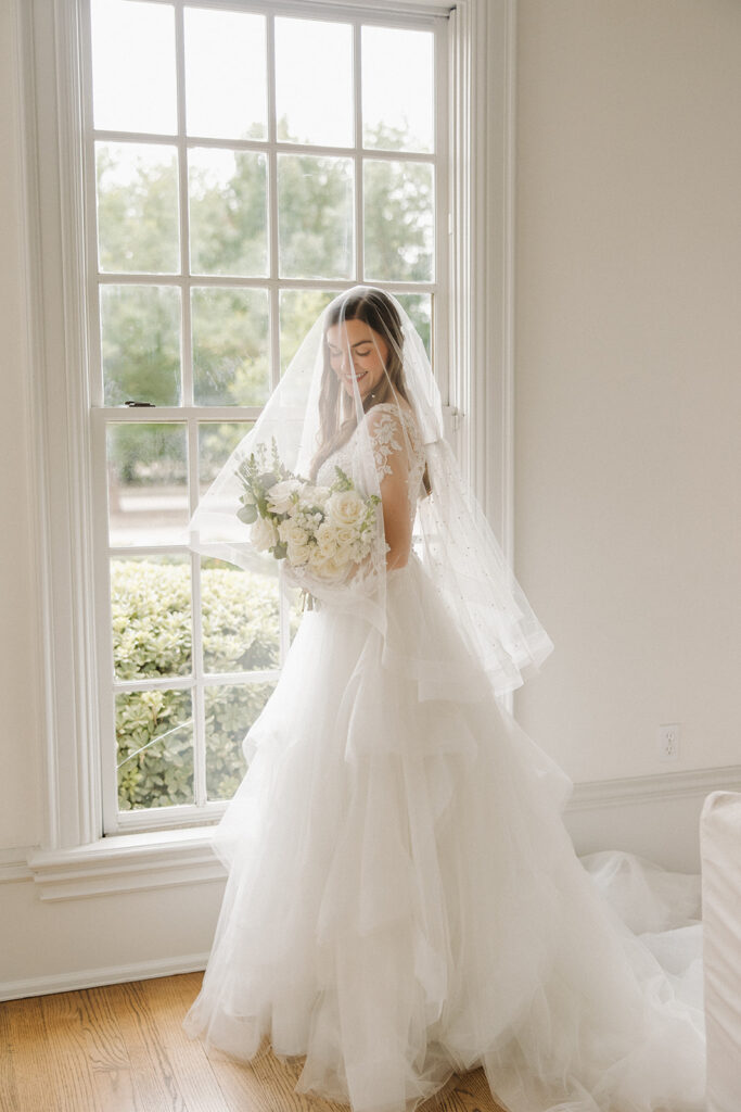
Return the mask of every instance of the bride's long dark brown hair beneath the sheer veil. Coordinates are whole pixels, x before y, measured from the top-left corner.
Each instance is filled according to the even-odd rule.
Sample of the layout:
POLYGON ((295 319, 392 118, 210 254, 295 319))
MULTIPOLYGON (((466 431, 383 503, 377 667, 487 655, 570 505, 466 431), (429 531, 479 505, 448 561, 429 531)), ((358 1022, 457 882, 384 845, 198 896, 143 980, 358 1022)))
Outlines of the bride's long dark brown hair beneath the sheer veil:
MULTIPOLYGON (((362 292, 350 294, 346 298, 338 298, 327 314, 324 321, 324 335, 322 338, 323 371, 321 389, 319 393, 319 448, 311 460, 311 478, 316 479, 317 471, 324 460, 346 444, 357 428, 354 401, 350 395, 342 389, 339 378, 332 370, 329 361, 329 345, 327 332, 333 325, 342 320, 362 320, 373 329, 384 341, 388 348, 385 361, 385 374, 370 394, 362 399, 363 411, 368 413, 373 406, 383 401, 394 401, 403 398, 409 408, 414 411, 414 406, 407 393, 404 385, 404 367, 402 361, 402 350, 404 342, 401 318, 395 305, 383 292, 375 287, 366 287, 362 292)), ((430 493, 430 478, 427 466, 422 477, 424 489, 430 493)))

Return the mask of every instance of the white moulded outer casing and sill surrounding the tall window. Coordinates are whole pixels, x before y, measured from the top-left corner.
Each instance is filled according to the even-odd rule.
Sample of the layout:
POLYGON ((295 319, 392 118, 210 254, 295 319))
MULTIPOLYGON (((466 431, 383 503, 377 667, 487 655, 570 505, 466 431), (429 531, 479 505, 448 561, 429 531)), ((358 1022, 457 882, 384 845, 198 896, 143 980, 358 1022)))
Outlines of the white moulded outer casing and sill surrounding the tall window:
MULTIPOLYGON (((49 900, 192 883, 222 872, 208 827, 101 836, 83 373, 81 2, 27 0, 14 9, 43 661, 44 832, 29 866, 41 898, 49 900)), ((296 0, 297 13, 313 3, 296 0)), ((323 7, 363 6, 323 0, 323 7)), ((450 428, 511 560, 515 0, 374 0, 373 8, 450 13, 450 428)))

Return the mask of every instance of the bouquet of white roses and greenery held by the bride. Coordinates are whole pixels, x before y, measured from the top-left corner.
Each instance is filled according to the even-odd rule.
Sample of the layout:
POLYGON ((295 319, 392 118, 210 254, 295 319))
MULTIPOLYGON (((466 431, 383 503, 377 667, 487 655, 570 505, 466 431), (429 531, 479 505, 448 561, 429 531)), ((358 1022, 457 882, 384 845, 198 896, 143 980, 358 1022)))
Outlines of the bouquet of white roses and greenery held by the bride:
POLYGON ((294 475, 272 445, 242 460, 237 516, 251 525, 250 539, 291 568, 306 569, 328 583, 341 582, 353 564, 371 552, 375 536, 378 495, 364 497, 340 467, 330 486, 294 475))

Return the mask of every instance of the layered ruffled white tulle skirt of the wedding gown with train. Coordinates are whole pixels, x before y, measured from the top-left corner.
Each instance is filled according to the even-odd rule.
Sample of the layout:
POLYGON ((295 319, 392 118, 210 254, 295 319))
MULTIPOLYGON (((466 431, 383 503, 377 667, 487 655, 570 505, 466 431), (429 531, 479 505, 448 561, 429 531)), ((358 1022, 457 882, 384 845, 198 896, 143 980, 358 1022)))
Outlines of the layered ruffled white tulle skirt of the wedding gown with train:
POLYGON ((309 612, 214 833, 229 876, 186 1031, 306 1055, 297 1091, 410 1112, 485 1070, 511 1112, 699 1112, 699 878, 577 857, 571 781, 412 558, 385 638, 309 612), (439 683, 403 666, 449 659, 439 683), (460 667, 458 667, 460 666, 460 667), (468 673, 467 673, 468 668, 468 673))

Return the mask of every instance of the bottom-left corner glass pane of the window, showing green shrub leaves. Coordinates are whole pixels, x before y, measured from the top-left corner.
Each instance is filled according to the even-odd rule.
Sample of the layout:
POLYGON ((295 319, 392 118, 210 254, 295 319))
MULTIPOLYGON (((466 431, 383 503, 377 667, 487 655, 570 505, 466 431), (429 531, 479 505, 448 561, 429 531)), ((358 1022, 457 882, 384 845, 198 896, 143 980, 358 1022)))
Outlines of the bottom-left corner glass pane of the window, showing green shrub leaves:
POLYGON ((119 807, 193 802, 193 717, 189 691, 116 696, 119 807))

